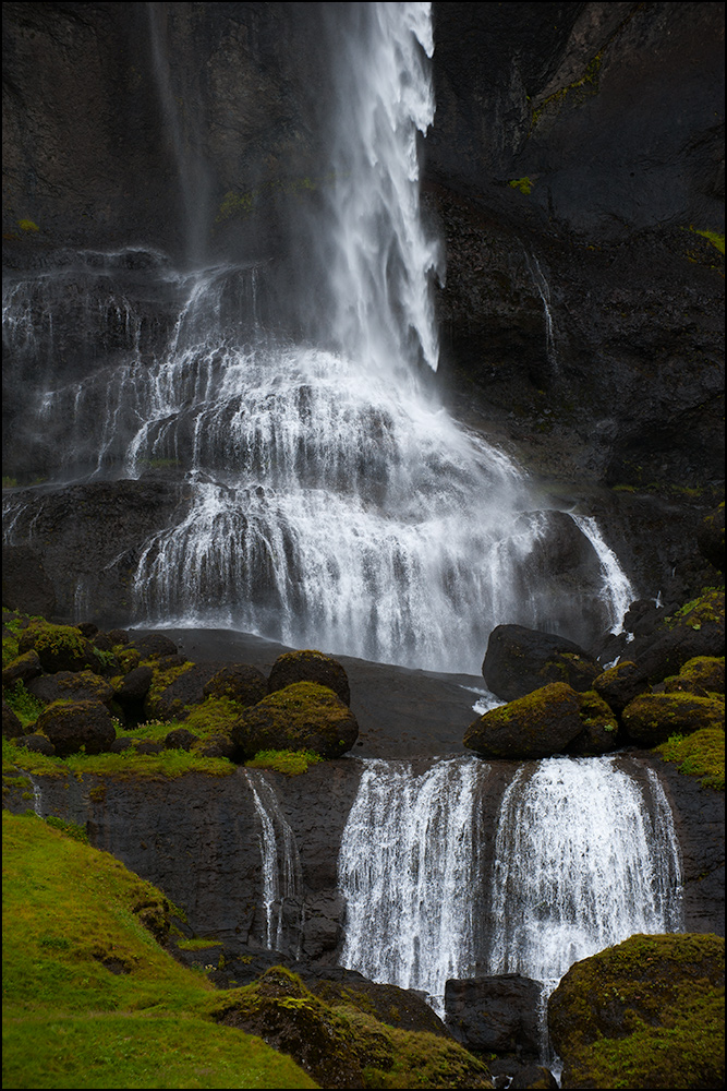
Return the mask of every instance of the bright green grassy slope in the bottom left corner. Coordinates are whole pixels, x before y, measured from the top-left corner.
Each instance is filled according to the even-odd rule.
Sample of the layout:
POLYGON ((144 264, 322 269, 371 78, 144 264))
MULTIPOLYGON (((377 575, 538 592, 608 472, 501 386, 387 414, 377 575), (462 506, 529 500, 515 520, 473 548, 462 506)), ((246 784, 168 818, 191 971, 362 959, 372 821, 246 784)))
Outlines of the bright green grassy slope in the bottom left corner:
POLYGON ((3 1087, 315 1088, 206 1015, 211 985, 142 923, 172 911, 107 853, 3 812, 3 1087))

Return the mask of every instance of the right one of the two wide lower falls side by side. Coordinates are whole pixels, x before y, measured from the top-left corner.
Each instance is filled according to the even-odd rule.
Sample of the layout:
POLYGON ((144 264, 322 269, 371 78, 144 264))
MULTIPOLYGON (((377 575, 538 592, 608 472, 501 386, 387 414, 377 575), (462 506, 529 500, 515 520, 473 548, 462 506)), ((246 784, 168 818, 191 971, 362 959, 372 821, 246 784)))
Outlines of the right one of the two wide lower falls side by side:
POLYGON ((549 995, 580 959, 634 933, 683 930, 671 812, 639 768, 601 757, 518 769, 495 838, 490 972, 523 973, 549 995))

